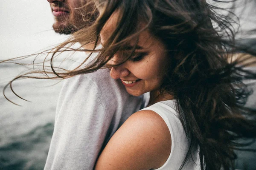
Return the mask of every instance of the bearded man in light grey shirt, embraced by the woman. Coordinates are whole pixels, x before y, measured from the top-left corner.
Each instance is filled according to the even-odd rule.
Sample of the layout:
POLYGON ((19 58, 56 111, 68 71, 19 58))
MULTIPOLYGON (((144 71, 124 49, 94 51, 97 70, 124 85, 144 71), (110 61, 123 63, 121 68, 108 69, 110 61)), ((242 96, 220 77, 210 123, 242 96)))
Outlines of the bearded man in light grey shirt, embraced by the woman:
MULTIPOLYGON (((92 9, 90 6, 80 16, 81 0, 48 2, 55 16, 53 28, 58 33, 72 34, 92 22, 84 20, 92 18, 87 13, 87 9, 92 9)), ((86 55, 76 63, 84 58, 86 55)), ((145 103, 144 96, 129 95, 121 82, 112 79, 109 69, 65 79, 44 170, 92 170, 113 133, 132 113, 144 108, 145 103)))

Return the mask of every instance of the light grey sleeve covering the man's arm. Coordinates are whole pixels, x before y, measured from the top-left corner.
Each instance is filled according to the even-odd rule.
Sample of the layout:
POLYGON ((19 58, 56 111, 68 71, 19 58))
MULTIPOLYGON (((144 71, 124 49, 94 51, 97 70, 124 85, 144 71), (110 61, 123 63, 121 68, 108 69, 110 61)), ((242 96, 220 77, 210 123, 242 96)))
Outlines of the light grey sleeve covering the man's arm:
POLYGON ((111 118, 90 79, 78 75, 65 80, 44 170, 92 170, 111 118))

